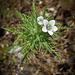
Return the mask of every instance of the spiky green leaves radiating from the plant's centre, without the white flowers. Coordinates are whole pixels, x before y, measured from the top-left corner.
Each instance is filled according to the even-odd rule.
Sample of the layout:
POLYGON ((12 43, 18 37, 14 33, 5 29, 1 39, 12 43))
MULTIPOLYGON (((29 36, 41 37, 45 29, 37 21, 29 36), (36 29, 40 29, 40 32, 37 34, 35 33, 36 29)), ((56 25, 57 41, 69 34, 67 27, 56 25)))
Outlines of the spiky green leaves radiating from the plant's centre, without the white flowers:
MULTIPOLYGON (((46 8, 43 12, 43 17, 45 17, 46 8)), ((19 36, 15 40, 14 45, 19 45, 19 42, 21 42, 19 46, 22 47, 21 52, 24 53, 24 58, 22 62, 27 59, 28 54, 30 53, 32 53, 33 56, 35 56, 33 52, 34 49, 36 50, 44 49, 45 52, 49 51, 50 53, 54 52, 58 57, 58 59, 60 59, 58 53, 55 50, 53 50, 51 46, 51 45, 56 45, 57 43, 51 41, 53 37, 50 36, 48 33, 42 32, 42 27, 37 24, 38 15, 35 10, 34 1, 33 1, 33 12, 31 12, 29 15, 21 14, 18 11, 15 11, 15 13, 17 14, 18 17, 20 17, 22 21, 22 23, 19 22, 18 25, 20 31, 8 29, 8 28, 4 28, 4 29, 15 34, 19 34, 19 36)), ((13 60, 15 61, 15 59, 13 60)))

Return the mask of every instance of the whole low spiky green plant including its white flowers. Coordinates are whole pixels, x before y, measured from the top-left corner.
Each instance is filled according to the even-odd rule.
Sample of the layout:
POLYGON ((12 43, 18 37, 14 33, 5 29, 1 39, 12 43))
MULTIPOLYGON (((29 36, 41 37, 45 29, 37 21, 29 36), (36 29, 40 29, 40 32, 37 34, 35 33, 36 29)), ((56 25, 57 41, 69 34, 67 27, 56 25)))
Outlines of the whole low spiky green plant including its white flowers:
POLYGON ((56 31, 60 29, 57 27, 58 24, 55 24, 55 20, 49 21, 49 18, 45 19, 46 8, 41 16, 38 16, 35 10, 34 1, 32 8, 33 11, 28 15, 15 11, 22 21, 19 21, 18 25, 20 31, 8 28, 4 29, 19 34, 15 40, 14 46, 19 45, 22 47, 21 52, 24 53, 22 62, 27 59, 29 53, 35 56, 34 49, 50 53, 53 52, 60 60, 59 54, 52 47, 56 45, 56 42, 53 42, 52 39, 56 36, 56 31))

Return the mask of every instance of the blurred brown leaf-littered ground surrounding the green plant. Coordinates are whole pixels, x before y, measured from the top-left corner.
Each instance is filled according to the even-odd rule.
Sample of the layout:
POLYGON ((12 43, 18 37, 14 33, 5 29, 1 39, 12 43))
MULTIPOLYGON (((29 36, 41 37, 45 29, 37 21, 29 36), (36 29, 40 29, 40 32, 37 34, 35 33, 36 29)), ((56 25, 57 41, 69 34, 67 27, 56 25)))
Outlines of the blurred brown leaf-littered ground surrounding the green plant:
POLYGON ((0 0, 0 75, 75 75, 75 0, 34 1, 38 14, 42 14, 47 4, 46 17, 52 17, 62 27, 71 28, 59 30, 64 33, 53 39, 57 42, 54 47, 62 63, 54 54, 34 50, 36 57, 29 55, 27 62, 20 65, 22 55, 16 57, 8 49, 18 35, 3 28, 18 29, 20 18, 14 10, 28 15, 33 0, 0 0))

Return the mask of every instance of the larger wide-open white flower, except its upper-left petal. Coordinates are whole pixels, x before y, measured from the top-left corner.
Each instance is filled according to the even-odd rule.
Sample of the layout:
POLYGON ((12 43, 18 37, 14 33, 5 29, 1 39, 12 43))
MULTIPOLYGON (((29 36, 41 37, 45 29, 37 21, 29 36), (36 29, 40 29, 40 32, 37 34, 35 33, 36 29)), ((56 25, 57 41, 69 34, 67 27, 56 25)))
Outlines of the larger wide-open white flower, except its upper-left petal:
POLYGON ((51 20, 47 25, 44 25, 42 28, 43 32, 48 32, 50 35, 53 35, 53 32, 57 31, 58 28, 55 25, 55 20, 51 20))

